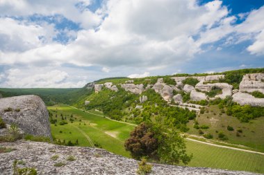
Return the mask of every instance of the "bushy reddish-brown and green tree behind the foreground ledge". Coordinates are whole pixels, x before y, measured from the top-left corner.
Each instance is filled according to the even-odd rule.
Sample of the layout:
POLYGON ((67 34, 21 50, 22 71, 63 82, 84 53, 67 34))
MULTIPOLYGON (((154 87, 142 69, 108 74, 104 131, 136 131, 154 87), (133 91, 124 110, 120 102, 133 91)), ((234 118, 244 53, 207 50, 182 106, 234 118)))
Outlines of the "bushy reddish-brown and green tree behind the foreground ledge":
POLYGON ((160 163, 178 165, 183 162, 186 165, 192 158, 192 155, 186 154, 184 139, 176 129, 142 122, 135 127, 130 136, 125 142, 125 147, 131 152, 131 156, 138 160, 148 156, 160 163))

